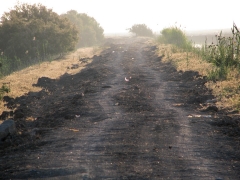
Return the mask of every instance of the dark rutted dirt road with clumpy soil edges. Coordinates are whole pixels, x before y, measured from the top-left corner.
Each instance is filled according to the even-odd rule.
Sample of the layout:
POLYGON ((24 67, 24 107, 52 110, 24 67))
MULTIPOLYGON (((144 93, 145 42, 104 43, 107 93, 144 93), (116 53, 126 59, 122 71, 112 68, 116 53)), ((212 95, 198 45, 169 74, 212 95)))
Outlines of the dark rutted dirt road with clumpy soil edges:
POLYGON ((17 127, 36 132, 1 151, 0 178, 240 179, 239 140, 213 123, 226 117, 198 110, 213 98, 204 78, 162 63, 147 39, 109 46, 80 73, 40 78, 41 92, 14 100, 38 117, 17 127))

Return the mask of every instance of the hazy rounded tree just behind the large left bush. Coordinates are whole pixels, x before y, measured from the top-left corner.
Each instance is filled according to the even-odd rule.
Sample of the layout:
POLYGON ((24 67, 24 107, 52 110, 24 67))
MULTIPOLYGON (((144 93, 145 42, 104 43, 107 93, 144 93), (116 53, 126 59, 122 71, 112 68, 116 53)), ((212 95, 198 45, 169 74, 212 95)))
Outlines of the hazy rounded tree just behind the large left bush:
POLYGON ((95 45, 103 40, 104 30, 93 17, 78 13, 75 10, 68 11, 62 17, 68 18, 77 27, 79 32, 78 47, 95 45))

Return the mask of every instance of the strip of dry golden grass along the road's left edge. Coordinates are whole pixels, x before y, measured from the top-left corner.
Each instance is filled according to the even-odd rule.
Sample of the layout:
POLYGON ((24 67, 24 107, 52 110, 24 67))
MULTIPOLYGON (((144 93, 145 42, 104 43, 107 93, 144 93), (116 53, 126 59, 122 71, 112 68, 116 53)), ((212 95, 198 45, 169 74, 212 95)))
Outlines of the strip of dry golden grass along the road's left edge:
MULTIPOLYGON (((80 48, 77 51, 66 55, 63 59, 44 62, 42 64, 30 66, 21 71, 14 72, 9 76, 0 79, 0 84, 10 82, 11 92, 7 95, 13 98, 22 96, 30 91, 38 92, 41 88, 32 86, 32 84, 37 83, 38 78, 49 77, 57 79, 65 73, 76 74, 84 69, 86 65, 86 63, 81 63, 79 58, 92 58, 93 55, 98 55, 100 52, 101 48, 98 47, 80 48), (71 69, 72 64, 78 64, 79 68, 71 69)), ((90 62, 91 60, 87 63, 90 62)), ((0 114, 4 110, 7 110, 6 107, 4 107, 4 102, 0 101, 0 114)))

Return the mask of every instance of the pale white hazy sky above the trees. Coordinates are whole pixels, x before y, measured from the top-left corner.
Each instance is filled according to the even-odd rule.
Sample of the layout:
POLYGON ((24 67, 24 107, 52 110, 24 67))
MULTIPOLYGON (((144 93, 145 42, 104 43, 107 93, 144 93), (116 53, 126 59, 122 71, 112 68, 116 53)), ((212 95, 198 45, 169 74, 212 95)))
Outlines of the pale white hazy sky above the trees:
MULTIPOLYGON (((14 8, 17 0, 0 0, 0 16, 14 8)), ((155 32, 177 25, 186 30, 240 27, 239 0, 20 0, 41 3, 58 14, 69 10, 94 17, 105 33, 127 32, 144 23, 155 32), (186 28, 185 28, 186 27, 186 28)))

